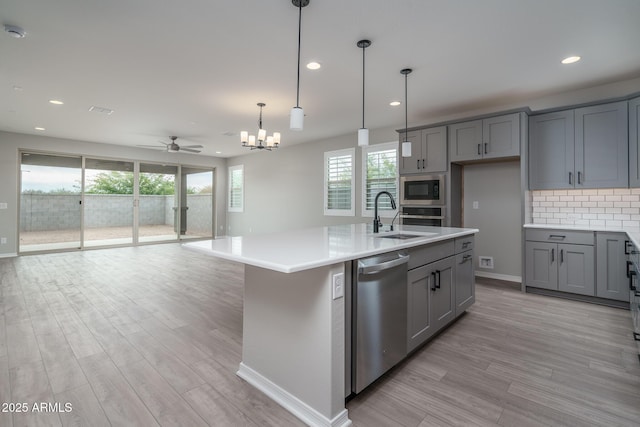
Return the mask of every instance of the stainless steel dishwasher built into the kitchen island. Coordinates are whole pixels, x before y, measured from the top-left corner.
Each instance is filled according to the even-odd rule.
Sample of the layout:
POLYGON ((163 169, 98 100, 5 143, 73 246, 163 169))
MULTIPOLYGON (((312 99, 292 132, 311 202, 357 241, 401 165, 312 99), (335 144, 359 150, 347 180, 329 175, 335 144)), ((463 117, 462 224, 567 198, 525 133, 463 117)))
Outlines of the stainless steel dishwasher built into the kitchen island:
POLYGON ((352 391, 360 393, 407 355, 404 252, 358 260, 352 301, 352 391))

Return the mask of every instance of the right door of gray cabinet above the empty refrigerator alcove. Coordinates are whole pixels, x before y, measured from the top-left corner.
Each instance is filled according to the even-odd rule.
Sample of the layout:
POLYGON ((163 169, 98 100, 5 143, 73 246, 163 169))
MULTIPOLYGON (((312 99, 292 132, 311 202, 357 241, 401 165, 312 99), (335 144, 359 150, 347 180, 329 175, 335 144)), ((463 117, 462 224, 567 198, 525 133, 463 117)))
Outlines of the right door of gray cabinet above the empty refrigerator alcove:
POLYGON ((485 159, 520 155, 520 114, 482 121, 482 155, 485 159))

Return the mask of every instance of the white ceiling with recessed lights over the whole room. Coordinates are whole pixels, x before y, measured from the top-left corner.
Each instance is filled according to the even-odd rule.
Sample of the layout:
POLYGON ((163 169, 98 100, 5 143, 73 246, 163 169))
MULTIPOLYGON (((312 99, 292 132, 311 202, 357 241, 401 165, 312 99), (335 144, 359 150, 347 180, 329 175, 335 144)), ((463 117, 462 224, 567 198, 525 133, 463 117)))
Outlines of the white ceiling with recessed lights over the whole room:
MULTIPOLYGON (((298 9, 291 0, 0 0, 0 130, 112 144, 203 144, 243 154, 239 131, 283 146, 404 127, 640 76, 638 0, 311 0, 302 11, 302 132, 295 105, 298 9), (580 55, 563 66, 560 60, 580 55), (304 64, 316 60, 318 71, 304 64), (48 103, 64 101, 62 106, 48 103), (89 112, 90 106, 115 110, 89 112), (42 126, 45 131, 36 131, 42 126), (225 135, 232 133, 232 136, 225 135)), ((216 154, 216 152, 221 154, 216 154)))

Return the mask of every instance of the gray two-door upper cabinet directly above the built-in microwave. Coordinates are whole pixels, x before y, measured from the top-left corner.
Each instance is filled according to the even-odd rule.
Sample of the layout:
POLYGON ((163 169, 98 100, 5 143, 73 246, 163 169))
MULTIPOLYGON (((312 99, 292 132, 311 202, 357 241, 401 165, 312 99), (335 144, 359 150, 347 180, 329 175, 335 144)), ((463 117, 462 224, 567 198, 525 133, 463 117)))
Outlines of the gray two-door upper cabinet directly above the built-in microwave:
MULTIPOLYGON (((404 133, 400 134, 401 143, 404 133)), ((445 172, 447 170, 447 127, 411 131, 411 157, 400 157, 400 173, 445 172)))

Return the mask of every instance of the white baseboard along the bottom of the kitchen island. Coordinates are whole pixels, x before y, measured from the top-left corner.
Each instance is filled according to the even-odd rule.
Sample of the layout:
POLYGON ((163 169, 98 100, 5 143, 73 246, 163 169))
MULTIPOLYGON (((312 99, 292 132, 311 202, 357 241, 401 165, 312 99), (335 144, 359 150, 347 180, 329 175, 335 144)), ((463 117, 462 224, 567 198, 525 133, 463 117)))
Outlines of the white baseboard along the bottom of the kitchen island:
POLYGON ((240 363, 236 375, 269 396, 307 425, 318 427, 349 427, 351 425, 346 408, 333 419, 329 419, 244 363, 240 363))

